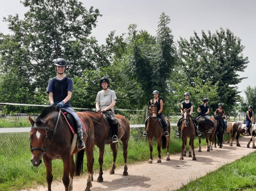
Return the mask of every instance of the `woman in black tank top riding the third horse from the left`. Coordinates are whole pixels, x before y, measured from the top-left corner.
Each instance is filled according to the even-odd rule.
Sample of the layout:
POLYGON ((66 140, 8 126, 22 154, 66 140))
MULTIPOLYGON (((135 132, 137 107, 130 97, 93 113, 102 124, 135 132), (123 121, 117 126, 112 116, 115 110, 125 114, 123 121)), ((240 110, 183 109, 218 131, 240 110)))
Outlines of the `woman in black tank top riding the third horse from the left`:
MULTIPOLYGON (((157 106, 157 117, 162 120, 164 135, 169 136, 169 133, 167 131, 167 123, 166 123, 165 118, 164 118, 163 113, 162 113, 163 100, 158 97, 159 92, 157 90, 153 91, 153 95, 154 95, 154 99, 151 99, 150 103, 155 104, 155 102, 157 101, 157 104, 156 104, 156 106, 157 106)), ((147 131, 144 131, 143 136, 147 136, 147 131)))

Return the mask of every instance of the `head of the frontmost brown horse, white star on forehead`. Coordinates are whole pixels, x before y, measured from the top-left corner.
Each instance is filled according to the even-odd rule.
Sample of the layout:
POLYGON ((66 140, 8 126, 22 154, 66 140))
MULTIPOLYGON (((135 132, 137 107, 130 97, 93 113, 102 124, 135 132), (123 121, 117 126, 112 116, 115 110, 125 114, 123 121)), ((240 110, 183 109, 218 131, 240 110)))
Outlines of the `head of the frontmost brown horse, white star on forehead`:
POLYGON ((39 115, 34 121, 30 115, 28 120, 32 125, 30 130, 30 150, 31 150, 31 162, 33 166, 39 166, 42 163, 42 156, 47 148, 48 138, 48 123, 50 121, 50 115, 44 120, 39 115))

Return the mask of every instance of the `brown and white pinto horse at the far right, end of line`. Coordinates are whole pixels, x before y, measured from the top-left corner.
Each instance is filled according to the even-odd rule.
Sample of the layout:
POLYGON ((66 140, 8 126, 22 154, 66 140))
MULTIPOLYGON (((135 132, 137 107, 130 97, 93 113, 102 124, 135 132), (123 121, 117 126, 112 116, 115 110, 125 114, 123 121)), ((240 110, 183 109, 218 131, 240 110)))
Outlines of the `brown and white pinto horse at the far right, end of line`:
MULTIPOLYGON (((242 134, 242 135, 245 135, 245 128, 246 127, 246 124, 243 122, 243 121, 238 121, 238 122, 234 122, 233 125, 232 125, 232 128, 233 128, 233 132, 232 132, 232 136, 231 136, 231 142, 230 142, 230 146, 233 146, 233 140, 235 138, 235 134, 237 133, 236 135, 236 146, 241 146, 239 144, 239 135, 242 134)), ((247 130, 247 133, 249 135, 251 135, 251 139, 249 140, 248 144, 247 144, 247 147, 249 148, 250 147, 250 143, 252 142, 252 148, 256 148, 255 144, 254 144, 254 137, 256 136, 256 125, 254 123, 251 123, 250 127, 248 128, 247 130)))

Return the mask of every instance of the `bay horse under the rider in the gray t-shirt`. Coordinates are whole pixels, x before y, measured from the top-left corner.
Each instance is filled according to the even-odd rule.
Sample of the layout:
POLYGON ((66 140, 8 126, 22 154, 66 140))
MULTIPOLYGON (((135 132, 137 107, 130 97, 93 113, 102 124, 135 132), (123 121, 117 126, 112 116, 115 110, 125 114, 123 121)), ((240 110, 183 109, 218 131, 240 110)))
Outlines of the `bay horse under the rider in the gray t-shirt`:
MULTIPOLYGON (((99 176, 97 178, 97 182, 103 182, 103 155, 104 155, 104 149, 105 144, 110 144, 110 147, 112 149, 113 153, 113 164, 112 168, 109 172, 109 174, 115 174, 115 168, 116 168, 116 157, 117 157, 117 143, 112 143, 112 139, 109 138, 110 132, 110 126, 106 122, 106 118, 104 116, 103 112, 93 111, 93 110, 87 110, 87 111, 81 111, 78 112, 81 114, 87 114, 93 121, 94 124, 94 144, 99 147, 99 164, 100 164, 100 171, 99 176)), ((124 156, 124 172, 123 176, 127 176, 127 149, 128 149, 128 141, 130 138, 130 124, 128 120, 122 116, 122 115, 115 115, 117 121, 118 121, 118 140, 121 140, 123 143, 123 156, 124 156)), ((93 176, 92 176, 93 180, 93 176)))

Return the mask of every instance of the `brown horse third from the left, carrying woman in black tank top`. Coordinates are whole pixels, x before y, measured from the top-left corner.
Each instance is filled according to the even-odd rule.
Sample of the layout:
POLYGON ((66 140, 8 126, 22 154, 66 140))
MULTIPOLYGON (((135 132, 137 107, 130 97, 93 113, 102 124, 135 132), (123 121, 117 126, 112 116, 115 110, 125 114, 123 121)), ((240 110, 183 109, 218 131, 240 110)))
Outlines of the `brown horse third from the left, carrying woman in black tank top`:
MULTIPOLYGON (((162 149, 167 148, 167 157, 166 160, 170 161, 170 155, 169 155, 169 141, 170 141, 170 135, 164 136, 164 130, 159 122, 159 118, 157 117, 157 101, 155 104, 151 104, 149 101, 149 112, 150 116, 148 118, 148 123, 146 127, 147 131, 147 139, 149 142, 149 150, 150 150, 150 158, 148 160, 148 164, 152 164, 153 157, 152 157, 152 151, 153 151, 153 142, 152 139, 156 138, 157 140, 157 150, 158 150, 158 159, 157 163, 161 163, 161 140, 162 140, 162 149)), ((167 123, 167 131, 170 134, 170 122, 165 117, 166 123, 167 123)))

